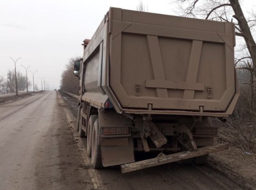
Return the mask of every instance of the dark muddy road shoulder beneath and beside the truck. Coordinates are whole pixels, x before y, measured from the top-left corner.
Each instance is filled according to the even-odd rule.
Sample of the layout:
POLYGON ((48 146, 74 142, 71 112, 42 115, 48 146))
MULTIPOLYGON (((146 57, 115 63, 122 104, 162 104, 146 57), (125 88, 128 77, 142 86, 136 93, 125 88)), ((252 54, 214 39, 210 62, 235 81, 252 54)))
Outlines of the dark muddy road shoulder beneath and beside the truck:
MULTIPOLYGON (((68 112, 73 115, 70 121, 72 117, 75 120, 76 99, 65 94, 62 97, 68 112)), ((69 124, 74 127, 72 121, 69 124)), ((84 159, 81 167, 91 173, 86 179, 94 178, 87 181, 92 183, 94 189, 256 189, 256 162, 253 156, 233 147, 210 155, 203 166, 170 163, 126 174, 122 174, 119 167, 93 170, 86 156, 86 139, 79 138, 73 127, 68 133, 70 136, 73 133, 74 139, 69 136, 67 144, 75 143, 77 147, 73 146, 73 154, 80 152, 83 155, 75 160, 81 164, 80 159, 84 159)))

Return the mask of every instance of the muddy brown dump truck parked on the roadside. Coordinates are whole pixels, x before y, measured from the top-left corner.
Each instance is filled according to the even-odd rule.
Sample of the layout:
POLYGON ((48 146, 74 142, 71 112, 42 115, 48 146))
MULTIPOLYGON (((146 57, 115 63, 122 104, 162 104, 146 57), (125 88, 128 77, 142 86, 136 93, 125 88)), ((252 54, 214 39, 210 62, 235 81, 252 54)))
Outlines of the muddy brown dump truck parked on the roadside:
POLYGON ((76 129, 94 168, 203 164, 228 149, 209 118, 225 121, 239 96, 233 23, 111 7, 82 45, 76 129))

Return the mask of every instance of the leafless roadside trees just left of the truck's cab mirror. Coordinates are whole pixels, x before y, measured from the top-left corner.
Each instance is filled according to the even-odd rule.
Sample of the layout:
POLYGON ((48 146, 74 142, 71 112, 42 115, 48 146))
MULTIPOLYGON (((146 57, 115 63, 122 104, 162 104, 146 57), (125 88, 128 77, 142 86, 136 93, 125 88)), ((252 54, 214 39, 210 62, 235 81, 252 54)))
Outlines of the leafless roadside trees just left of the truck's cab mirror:
POLYGON ((79 80, 74 75, 74 63, 81 57, 71 57, 66 64, 65 70, 61 74, 61 90, 70 92, 73 94, 79 94, 79 80))

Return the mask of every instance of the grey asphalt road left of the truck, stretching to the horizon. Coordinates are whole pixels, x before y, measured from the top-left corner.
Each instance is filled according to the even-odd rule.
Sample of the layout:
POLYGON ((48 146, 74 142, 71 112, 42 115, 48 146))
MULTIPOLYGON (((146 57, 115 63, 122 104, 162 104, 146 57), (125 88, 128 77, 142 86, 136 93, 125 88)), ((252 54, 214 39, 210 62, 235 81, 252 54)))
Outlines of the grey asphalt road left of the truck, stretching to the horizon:
POLYGON ((70 154, 74 136, 67 133, 70 126, 56 94, 44 92, 0 106, 1 190, 83 187, 81 159, 70 165, 72 156, 81 156, 70 154))

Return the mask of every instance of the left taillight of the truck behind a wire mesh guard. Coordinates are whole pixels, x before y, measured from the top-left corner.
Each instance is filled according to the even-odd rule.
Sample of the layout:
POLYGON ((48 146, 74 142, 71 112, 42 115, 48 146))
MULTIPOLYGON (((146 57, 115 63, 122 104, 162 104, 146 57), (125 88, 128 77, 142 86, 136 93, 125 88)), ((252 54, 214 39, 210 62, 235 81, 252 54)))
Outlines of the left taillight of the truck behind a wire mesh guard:
POLYGON ((131 127, 101 127, 100 135, 102 137, 126 137, 131 136, 131 127))

